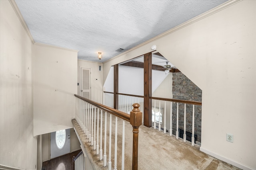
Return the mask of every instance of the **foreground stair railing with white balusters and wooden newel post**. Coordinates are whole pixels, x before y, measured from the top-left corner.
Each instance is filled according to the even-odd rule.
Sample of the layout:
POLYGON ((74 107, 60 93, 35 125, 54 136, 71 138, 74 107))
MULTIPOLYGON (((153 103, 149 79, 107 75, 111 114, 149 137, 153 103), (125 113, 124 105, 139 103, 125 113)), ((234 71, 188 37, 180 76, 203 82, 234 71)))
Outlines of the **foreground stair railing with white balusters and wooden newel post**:
MULTIPOLYGON (((132 169, 138 169, 138 132, 139 127, 142 125, 142 112, 140 105, 135 103, 132 106, 134 109, 130 114, 113 109, 111 107, 99 104, 92 100, 88 100, 81 96, 76 95, 76 121, 84 131, 85 135, 93 150, 99 154, 100 161, 103 161, 103 166, 107 166, 108 170, 112 169, 111 150, 112 150, 112 115, 115 118, 115 133, 114 133, 114 169, 117 169, 117 119, 118 117, 123 121, 122 127, 122 170, 124 170, 124 141, 125 141, 125 121, 130 122, 133 127, 133 151, 132 151, 132 169), (97 112, 97 114, 96 114, 97 112), (103 114, 104 112, 104 114, 103 114), (109 149, 107 158, 107 117, 109 116, 109 149), (104 118, 103 118, 104 117, 104 118), (103 127, 104 123, 104 127, 103 127), (96 133, 97 131, 97 133, 96 133), (104 135, 102 134, 104 131, 104 135), (100 135, 99 135, 100 134, 100 135), (104 136, 104 139, 103 139, 104 136), (104 150, 103 145, 104 144, 104 150)), ((113 123, 114 124, 114 123, 113 123)))

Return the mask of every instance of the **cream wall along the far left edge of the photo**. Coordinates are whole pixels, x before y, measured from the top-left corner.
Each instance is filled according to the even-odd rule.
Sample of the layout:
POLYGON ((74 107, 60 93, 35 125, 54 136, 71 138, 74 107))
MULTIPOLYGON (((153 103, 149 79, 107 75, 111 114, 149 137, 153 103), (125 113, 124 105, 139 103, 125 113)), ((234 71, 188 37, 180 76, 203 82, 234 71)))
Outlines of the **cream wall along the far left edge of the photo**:
POLYGON ((0 164, 36 168, 32 42, 7 0, 0 1, 0 164), (29 69, 28 69, 29 67, 29 69))

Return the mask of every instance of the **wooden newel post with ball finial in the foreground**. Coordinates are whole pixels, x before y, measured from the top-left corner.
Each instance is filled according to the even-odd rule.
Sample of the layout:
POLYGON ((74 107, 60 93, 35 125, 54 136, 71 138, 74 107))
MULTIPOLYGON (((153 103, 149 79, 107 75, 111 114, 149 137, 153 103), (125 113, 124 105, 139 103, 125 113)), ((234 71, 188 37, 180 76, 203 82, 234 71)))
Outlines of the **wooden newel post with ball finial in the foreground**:
POLYGON ((142 112, 139 107, 140 104, 132 105, 134 108, 130 112, 130 124, 133 127, 133 144, 132 144, 132 170, 138 170, 138 136, 139 127, 142 125, 142 112))

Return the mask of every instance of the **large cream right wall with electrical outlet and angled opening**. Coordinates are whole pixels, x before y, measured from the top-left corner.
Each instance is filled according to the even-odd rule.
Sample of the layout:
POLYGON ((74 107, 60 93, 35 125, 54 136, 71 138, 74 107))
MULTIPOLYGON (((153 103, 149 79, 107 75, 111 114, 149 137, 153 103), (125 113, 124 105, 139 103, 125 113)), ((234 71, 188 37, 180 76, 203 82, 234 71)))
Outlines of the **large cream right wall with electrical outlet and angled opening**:
MULTIPOLYGON (((256 1, 244 0, 188 21, 104 63, 157 51, 202 89, 200 150, 243 169, 256 169, 256 1), (234 143, 226 141, 234 135, 234 143)), ((225 5, 224 4, 224 5, 225 5)))

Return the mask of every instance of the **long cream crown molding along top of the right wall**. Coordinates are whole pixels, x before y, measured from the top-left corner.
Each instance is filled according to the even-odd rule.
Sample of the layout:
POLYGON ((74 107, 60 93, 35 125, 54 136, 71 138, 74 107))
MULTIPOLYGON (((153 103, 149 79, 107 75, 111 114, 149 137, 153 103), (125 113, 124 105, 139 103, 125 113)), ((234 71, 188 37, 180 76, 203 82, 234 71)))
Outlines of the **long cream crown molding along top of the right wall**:
POLYGON ((182 24, 180 24, 180 25, 178 25, 178 26, 176 26, 176 27, 174 27, 172 29, 169 29, 168 31, 166 31, 166 32, 164 32, 164 33, 162 33, 160 35, 157 35, 156 37, 154 37, 152 39, 149 39, 148 41, 145 41, 144 43, 141 43, 140 45, 137 45, 137 46, 135 46, 135 47, 125 51, 124 53, 121 53, 119 55, 116 55, 115 57, 112 57, 111 59, 109 59, 108 61, 105 61, 104 63, 112 61, 112 60, 116 59, 117 57, 120 57, 122 55, 125 55, 126 53, 129 53, 130 51, 138 49, 138 48, 140 48, 140 47, 142 47, 142 46, 144 46, 144 45, 146 45, 148 43, 151 43, 153 41, 156 41, 157 39, 160 39, 160 38, 162 38, 162 37, 164 37, 166 35, 169 35, 170 33, 178 31, 179 29, 182 29, 183 27, 186 27, 186 26, 188 26, 188 25, 190 25, 190 24, 192 24, 192 23, 194 23, 196 21, 199 21, 199 20, 202 20, 202 19, 204 19, 204 18, 206 18, 208 16, 211 16, 212 14, 215 14, 216 12, 219 12, 219 11, 225 9, 225 8, 228 8, 229 6, 232 6, 232 5, 234 5, 234 4, 236 4, 236 3, 240 2, 240 1, 242 1, 242 0, 229 0, 227 2, 224 2, 223 4, 221 4, 219 6, 216 6, 215 8, 212 8, 211 10, 209 10, 207 12, 204 12, 203 14, 200 14, 199 16, 196 16, 196 17, 192 18, 191 20, 188 20, 188 21, 186 21, 186 22, 184 22, 184 23, 182 23, 182 24))

